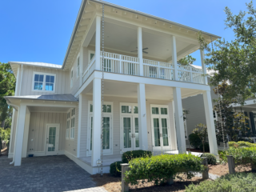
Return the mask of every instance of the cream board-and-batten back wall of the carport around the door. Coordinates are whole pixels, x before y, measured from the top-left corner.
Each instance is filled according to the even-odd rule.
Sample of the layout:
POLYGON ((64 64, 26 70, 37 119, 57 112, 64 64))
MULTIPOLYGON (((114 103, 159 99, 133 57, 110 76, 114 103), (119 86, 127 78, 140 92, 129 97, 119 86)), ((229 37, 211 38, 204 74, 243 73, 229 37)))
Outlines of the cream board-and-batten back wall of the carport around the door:
POLYGON ((54 123, 60 125, 58 150, 65 150, 66 113, 30 112, 27 153, 46 152, 46 124, 54 123))

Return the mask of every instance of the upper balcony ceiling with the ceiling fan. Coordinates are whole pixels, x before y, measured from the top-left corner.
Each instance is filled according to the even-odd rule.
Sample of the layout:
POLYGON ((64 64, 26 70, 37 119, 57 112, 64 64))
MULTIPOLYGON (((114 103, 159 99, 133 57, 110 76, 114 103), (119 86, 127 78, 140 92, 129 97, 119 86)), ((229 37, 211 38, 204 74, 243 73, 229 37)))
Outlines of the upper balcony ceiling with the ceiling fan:
MULTIPOLYGON (((110 19, 108 19, 110 21, 110 19)), ((126 25, 121 26, 120 23, 105 22, 105 49, 118 54, 126 54, 137 57, 137 27, 126 25), (128 26, 128 27, 127 27, 128 26), (134 52, 131 52, 134 51, 134 52)), ((185 39, 177 38, 178 58, 184 57, 195 50, 198 50, 197 43, 186 42, 185 39)), ((95 46, 95 34, 90 40, 90 46, 95 46)), ((142 30, 142 46, 148 48, 145 50, 148 54, 143 53, 143 58, 158 59, 159 61, 169 62, 171 54, 171 38, 170 35, 157 33, 153 30, 142 30)))

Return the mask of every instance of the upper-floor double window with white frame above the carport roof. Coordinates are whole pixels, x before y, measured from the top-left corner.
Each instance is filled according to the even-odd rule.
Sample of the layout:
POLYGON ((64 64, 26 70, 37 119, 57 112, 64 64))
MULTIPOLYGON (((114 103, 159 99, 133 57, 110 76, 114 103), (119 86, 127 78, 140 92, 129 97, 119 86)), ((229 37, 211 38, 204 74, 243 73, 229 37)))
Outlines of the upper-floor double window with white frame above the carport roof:
POLYGON ((55 91, 56 74, 46 74, 34 72, 32 90, 36 91, 55 91))

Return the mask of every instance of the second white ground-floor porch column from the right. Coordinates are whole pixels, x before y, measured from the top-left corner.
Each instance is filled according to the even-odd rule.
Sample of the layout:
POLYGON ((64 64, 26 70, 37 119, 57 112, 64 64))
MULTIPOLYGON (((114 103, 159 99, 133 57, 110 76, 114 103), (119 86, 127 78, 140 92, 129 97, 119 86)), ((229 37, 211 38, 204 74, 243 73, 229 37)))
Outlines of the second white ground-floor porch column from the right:
POLYGON ((182 110, 182 92, 181 88, 175 87, 174 91, 174 113, 176 122, 176 134, 178 142, 178 153, 186 153, 186 139, 183 122, 183 110, 182 110))

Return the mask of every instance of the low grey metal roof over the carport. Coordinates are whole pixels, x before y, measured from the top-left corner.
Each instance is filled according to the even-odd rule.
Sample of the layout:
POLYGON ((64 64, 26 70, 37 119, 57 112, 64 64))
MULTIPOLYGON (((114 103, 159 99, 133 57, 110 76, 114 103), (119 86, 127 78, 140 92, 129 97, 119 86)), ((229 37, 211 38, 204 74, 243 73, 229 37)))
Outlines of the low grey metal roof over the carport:
POLYGON ((6 96, 8 99, 30 99, 30 100, 45 100, 56 102, 78 102, 72 94, 46 94, 46 95, 24 95, 24 96, 6 96))

